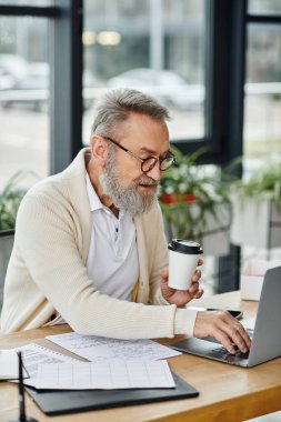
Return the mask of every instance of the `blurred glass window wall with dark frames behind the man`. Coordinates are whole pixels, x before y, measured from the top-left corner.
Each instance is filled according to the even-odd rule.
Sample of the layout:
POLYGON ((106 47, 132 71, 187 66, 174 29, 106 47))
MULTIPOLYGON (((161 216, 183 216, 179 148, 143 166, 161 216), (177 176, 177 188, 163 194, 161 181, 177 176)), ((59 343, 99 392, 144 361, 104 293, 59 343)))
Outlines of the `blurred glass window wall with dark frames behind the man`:
MULTIPOLYGON (((0 188, 21 169, 61 171, 117 87, 167 105, 171 142, 208 147, 209 172, 242 157, 249 178, 281 154, 280 17, 279 0, 0 0, 0 188)), ((207 290, 235 289, 267 253, 207 257, 207 290)))

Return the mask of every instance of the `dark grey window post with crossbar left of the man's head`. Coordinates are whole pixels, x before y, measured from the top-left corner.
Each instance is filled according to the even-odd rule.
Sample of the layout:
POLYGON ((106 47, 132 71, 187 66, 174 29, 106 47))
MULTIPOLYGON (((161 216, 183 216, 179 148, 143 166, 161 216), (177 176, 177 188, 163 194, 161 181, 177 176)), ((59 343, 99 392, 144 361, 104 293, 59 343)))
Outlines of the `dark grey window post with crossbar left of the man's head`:
POLYGON ((50 23, 50 173, 82 148, 82 0, 52 6, 1 6, 0 17, 48 18, 50 23))

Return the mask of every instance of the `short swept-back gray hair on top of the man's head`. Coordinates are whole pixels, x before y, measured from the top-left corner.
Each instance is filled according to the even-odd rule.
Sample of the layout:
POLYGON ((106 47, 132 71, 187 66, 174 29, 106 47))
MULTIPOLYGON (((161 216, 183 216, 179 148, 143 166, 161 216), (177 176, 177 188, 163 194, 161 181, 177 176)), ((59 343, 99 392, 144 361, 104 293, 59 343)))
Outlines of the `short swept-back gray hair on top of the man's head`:
POLYGON ((130 112, 147 114, 160 122, 170 119, 165 107, 134 89, 109 91, 100 99, 96 110, 97 115, 91 128, 91 134, 114 133, 118 130, 118 124, 124 122, 130 112))

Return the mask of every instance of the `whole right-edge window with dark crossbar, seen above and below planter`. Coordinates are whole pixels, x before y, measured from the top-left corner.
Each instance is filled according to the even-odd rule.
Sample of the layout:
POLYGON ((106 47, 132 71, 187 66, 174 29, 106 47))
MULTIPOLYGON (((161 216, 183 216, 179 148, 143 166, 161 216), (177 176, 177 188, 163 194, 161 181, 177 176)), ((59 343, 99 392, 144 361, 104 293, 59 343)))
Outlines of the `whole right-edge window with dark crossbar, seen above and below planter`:
MULTIPOLYGON (((281 153, 281 3, 249 0, 247 14, 243 178, 281 153)), ((281 250, 241 249, 249 258, 277 259, 281 250)))

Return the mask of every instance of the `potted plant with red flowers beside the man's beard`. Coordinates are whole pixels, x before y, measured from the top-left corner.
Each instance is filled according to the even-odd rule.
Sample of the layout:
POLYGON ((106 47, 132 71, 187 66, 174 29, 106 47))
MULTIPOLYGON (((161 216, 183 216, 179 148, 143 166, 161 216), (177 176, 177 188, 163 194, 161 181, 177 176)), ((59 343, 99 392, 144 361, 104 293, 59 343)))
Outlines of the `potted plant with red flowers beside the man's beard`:
POLYGON ((227 254, 230 202, 220 172, 195 165, 204 149, 184 155, 172 145, 172 152, 178 160, 162 174, 159 197, 168 239, 197 240, 207 254, 227 254))

